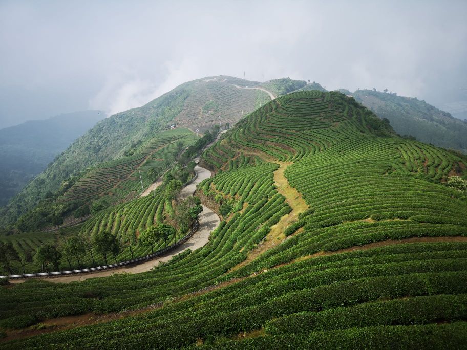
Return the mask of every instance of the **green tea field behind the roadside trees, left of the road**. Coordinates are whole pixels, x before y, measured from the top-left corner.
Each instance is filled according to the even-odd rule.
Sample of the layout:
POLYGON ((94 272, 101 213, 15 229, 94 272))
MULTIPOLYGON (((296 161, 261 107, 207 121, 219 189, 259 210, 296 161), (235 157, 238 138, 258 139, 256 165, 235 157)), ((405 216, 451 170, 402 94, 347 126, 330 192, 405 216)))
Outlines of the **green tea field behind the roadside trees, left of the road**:
MULTIPOLYGON (((137 244, 137 239, 140 232, 146 228, 157 225, 163 222, 169 222, 170 209, 172 208, 169 201, 166 201, 162 191, 158 191, 156 196, 149 195, 144 198, 136 199, 124 204, 112 206, 102 210, 94 215, 84 224, 73 226, 70 228, 60 229, 56 232, 43 233, 23 233, 7 236, 2 238, 2 242, 11 242, 16 251, 20 254, 28 252, 32 258, 25 265, 25 273, 38 272, 37 264, 34 263, 34 255, 36 250, 43 244, 53 244, 61 248, 67 238, 80 235, 83 238, 94 237, 102 231, 110 232, 116 236, 116 240, 120 246, 120 252, 115 259, 111 257, 108 262, 115 260, 117 262, 128 261, 134 258, 143 257, 157 252, 160 249, 166 248, 164 240, 160 239, 154 247, 153 251, 150 246, 137 244), (133 244, 132 247, 129 245, 133 244)), ((167 246, 173 244, 176 240, 182 238, 180 234, 172 235, 167 239, 167 246)), ((59 270, 72 270, 80 268, 91 268, 96 266, 104 266, 105 261, 102 254, 92 247, 91 253, 86 252, 79 255, 79 261, 75 256, 62 256, 59 261, 59 270), (92 254, 91 254, 92 253, 92 254)), ((15 271, 23 272, 19 262, 14 261, 12 265, 15 271)), ((40 271, 39 271, 40 272, 40 271)), ((8 274, 7 271, 4 273, 8 274)))

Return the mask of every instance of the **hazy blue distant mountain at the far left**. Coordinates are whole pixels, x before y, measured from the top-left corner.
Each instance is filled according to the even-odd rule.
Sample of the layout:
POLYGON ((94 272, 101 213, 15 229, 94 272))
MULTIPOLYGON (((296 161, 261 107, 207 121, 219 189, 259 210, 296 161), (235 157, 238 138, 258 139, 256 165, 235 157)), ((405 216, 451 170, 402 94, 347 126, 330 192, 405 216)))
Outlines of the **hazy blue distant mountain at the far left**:
POLYGON ((105 117, 80 111, 0 129, 0 205, 7 204, 47 164, 105 117))

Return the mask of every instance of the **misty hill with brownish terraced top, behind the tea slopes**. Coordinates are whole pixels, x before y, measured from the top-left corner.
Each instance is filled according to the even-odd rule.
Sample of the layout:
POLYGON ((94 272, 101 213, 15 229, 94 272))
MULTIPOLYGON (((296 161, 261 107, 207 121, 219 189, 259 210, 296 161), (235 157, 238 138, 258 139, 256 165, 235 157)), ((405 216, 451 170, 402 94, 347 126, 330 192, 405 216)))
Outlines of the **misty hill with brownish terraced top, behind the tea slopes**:
POLYGON ((229 76, 206 77, 181 84, 142 107, 99 121, 0 209, 0 225, 15 222, 41 200, 61 195, 77 178, 103 162, 134 154, 171 124, 193 133, 196 129, 204 133, 219 123, 219 117, 224 127, 233 125, 242 117, 242 108, 246 115, 270 100, 261 90, 234 85, 259 84, 229 76))

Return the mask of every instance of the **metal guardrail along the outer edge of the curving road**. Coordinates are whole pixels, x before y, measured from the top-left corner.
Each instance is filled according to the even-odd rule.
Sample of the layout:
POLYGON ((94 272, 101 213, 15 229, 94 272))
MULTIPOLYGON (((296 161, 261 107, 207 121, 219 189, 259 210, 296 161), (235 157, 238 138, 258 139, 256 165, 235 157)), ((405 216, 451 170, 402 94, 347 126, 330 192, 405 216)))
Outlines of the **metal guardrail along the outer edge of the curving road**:
POLYGON ((171 245, 171 246, 169 246, 167 248, 164 248, 162 250, 159 250, 159 251, 155 252, 154 254, 143 256, 143 257, 140 257, 140 258, 137 258, 137 259, 117 262, 117 264, 99 266, 99 267, 89 268, 89 269, 57 271, 57 272, 29 273, 29 274, 25 274, 25 275, 8 275, 8 276, 0 276, 0 278, 15 279, 15 278, 67 276, 67 275, 76 275, 76 274, 80 274, 80 273, 89 273, 89 272, 95 272, 95 271, 111 270, 111 269, 115 269, 115 268, 122 267, 122 266, 136 265, 136 264, 139 264, 140 262, 152 260, 153 258, 158 257, 159 255, 162 255, 163 253, 180 246, 182 243, 185 243, 191 236, 193 236, 193 234, 198 229, 198 226, 199 225, 197 223, 195 225, 195 227, 193 227, 183 238, 179 239, 173 245, 171 245))

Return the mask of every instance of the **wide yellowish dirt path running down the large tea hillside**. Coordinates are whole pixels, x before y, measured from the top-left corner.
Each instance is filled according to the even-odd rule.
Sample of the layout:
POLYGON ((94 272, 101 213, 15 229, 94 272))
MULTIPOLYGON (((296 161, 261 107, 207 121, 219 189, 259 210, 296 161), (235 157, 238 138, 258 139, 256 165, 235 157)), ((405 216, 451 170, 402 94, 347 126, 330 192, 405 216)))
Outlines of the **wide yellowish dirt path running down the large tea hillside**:
POLYGON ((292 211, 281 217, 281 220, 273 226, 271 231, 267 234, 266 238, 258 244, 258 246, 252 249, 245 261, 235 266, 231 271, 235 271, 238 268, 249 264, 249 262, 256 259, 259 255, 265 251, 279 245, 286 236, 284 230, 287 226, 291 225, 298 220, 299 214, 303 213, 308 209, 308 205, 302 198, 302 194, 295 188, 289 185, 287 178, 284 176, 284 171, 292 162, 281 162, 279 163, 279 169, 274 171, 274 185, 279 193, 285 197, 286 203, 292 208, 292 211))

